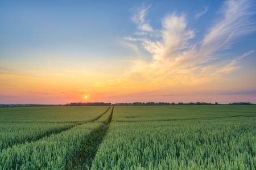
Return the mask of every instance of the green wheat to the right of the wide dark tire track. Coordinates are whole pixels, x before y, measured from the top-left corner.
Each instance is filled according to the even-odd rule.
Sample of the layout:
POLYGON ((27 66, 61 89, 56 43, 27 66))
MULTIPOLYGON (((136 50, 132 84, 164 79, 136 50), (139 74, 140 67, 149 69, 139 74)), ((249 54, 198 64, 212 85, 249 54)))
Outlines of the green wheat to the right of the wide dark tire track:
POLYGON ((116 107, 92 169, 255 169, 255 115, 255 106, 116 107))

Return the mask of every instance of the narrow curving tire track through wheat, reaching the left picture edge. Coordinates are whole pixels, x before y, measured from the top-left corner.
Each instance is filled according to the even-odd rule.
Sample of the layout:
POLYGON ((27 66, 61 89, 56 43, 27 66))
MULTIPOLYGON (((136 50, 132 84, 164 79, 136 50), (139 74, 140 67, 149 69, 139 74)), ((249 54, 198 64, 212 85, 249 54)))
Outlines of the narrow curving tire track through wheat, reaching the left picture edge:
MULTIPOLYGON (((110 106, 110 107, 111 107, 111 106, 110 106)), ((86 124, 87 122, 94 122, 94 121, 97 121, 99 118, 101 118, 104 114, 106 114, 106 113, 109 111, 110 107, 109 107, 108 109, 106 109, 106 111, 105 111, 104 113, 102 113, 102 114, 100 114, 99 116, 93 118, 92 120, 74 122, 73 125, 64 126, 63 128, 59 128, 59 129, 48 130, 48 131, 46 131, 46 133, 41 134, 41 135, 38 135, 38 137, 36 137, 36 139, 30 138, 30 139, 26 139, 26 140, 21 141, 21 142, 18 142, 18 143, 13 143, 13 144, 11 144, 11 145, 9 145, 9 146, 7 146, 7 147, 2 148, 2 150, 5 150, 6 148, 9 148, 9 147, 13 147, 14 145, 22 145, 22 144, 25 143, 25 142, 36 142, 36 141, 39 141, 40 139, 42 139, 42 138, 44 138, 44 137, 49 137, 49 136, 51 136, 51 135, 53 135, 53 134, 59 134, 59 133, 61 133, 61 132, 63 132, 63 131, 67 131, 67 130, 69 130, 69 129, 75 128, 76 126, 79 126, 79 125, 82 125, 82 124, 86 124)), ((50 123, 51 123, 51 122, 50 122, 50 123)), ((1 152, 2 150, 0 150, 0 152, 1 152)))

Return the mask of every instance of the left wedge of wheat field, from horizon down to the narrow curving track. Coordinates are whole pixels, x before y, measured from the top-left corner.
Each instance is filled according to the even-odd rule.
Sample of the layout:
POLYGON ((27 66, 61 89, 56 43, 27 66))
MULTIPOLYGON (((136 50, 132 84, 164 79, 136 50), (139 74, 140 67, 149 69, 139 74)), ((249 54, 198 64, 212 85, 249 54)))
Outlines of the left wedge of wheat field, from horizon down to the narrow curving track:
POLYGON ((72 111, 76 111, 73 113, 67 112, 69 111, 69 108, 67 108, 68 109, 67 111, 63 112, 64 107, 0 108, 0 111, 4 111, 4 112, 1 112, 3 115, 9 114, 11 111, 15 111, 15 113, 10 113, 11 115, 15 114, 15 116, 11 121, 0 122, 0 138, 1 138, 0 151, 2 151, 4 148, 7 148, 13 145, 18 145, 24 142, 36 141, 48 135, 60 133, 61 131, 71 129, 76 125, 80 125, 83 121, 86 122, 86 121, 97 120, 98 118, 103 116, 105 112, 108 111, 109 108, 106 111, 103 110, 106 108, 108 107, 88 107, 88 108, 87 107, 76 107, 76 108, 71 107, 72 111), (17 109, 20 109, 20 111, 17 111, 17 109), (41 111, 41 109, 43 111, 41 111), (27 111, 27 113, 21 114, 24 111, 27 111), (47 120, 45 119, 46 117, 49 117, 48 112, 52 113, 51 115, 52 118, 55 118, 56 116, 60 116, 61 112, 63 112, 64 116, 65 115, 69 116, 71 120, 72 118, 74 119, 74 117, 72 117, 74 115, 75 117, 82 116, 82 118, 80 120, 75 119, 74 122, 64 121, 64 122, 57 123, 59 119, 56 119, 56 118, 54 119, 56 122, 43 121, 43 120, 47 120), (37 119, 36 121, 30 121, 30 122, 13 121, 16 118, 18 118, 18 116, 20 117, 19 120, 23 120, 24 117, 22 117, 22 115, 24 115, 24 117, 35 116, 40 118, 37 119))

